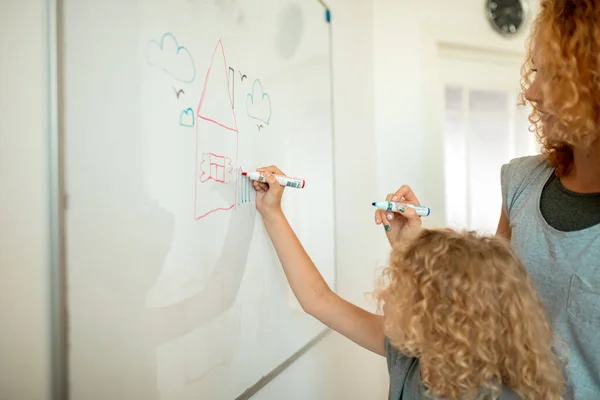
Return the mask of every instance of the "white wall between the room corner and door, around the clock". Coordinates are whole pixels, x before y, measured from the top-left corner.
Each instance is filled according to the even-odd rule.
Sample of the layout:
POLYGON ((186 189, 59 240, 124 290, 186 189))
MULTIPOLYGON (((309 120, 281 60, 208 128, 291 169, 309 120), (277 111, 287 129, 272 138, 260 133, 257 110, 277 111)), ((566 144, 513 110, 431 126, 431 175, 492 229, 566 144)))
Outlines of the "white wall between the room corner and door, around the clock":
POLYGON ((378 190, 409 184, 432 209, 429 225, 445 225, 438 45, 524 53, 527 32, 499 36, 483 7, 481 0, 374 0, 378 190))

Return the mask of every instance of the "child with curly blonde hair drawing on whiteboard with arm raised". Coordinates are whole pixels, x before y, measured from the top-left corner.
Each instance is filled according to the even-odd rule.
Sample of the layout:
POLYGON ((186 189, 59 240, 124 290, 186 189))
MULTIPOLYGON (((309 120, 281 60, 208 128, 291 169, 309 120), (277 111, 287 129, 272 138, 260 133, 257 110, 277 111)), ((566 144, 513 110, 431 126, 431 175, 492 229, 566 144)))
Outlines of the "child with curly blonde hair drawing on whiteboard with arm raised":
POLYGON ((502 239, 421 229, 407 209, 375 292, 383 315, 372 314, 333 293, 304 251, 272 176, 285 174, 273 166, 258 171, 268 184, 254 182, 256 206, 300 305, 387 357, 390 399, 561 398, 543 307, 502 239))

